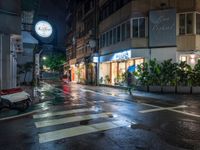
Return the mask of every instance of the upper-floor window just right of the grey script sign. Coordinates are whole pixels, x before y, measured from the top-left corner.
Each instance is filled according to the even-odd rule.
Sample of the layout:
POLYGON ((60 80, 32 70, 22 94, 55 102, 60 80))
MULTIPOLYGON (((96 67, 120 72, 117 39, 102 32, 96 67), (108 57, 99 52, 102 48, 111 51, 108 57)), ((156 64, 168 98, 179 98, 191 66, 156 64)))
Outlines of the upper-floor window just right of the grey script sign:
POLYGON ((193 33, 193 13, 185 13, 179 15, 179 34, 193 33))

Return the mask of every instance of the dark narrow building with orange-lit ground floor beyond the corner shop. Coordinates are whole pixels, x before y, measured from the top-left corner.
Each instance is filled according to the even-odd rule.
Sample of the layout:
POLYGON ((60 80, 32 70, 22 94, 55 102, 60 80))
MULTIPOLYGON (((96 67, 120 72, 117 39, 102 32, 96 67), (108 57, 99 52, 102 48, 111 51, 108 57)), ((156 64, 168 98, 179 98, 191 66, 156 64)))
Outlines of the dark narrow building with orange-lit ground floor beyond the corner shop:
POLYGON ((79 1, 74 9, 74 34, 67 52, 71 81, 95 84, 97 63, 93 62, 96 54, 97 38, 97 0, 79 1), (75 57, 74 57, 75 56, 75 57))

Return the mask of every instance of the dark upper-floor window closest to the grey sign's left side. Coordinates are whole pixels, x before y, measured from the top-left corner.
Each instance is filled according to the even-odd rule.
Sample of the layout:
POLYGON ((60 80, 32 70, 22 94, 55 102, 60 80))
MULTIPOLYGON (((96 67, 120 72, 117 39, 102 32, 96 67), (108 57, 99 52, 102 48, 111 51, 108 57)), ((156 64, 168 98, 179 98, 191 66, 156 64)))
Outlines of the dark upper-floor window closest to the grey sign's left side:
POLYGON ((145 18, 136 18, 132 21, 133 38, 145 37, 145 18))

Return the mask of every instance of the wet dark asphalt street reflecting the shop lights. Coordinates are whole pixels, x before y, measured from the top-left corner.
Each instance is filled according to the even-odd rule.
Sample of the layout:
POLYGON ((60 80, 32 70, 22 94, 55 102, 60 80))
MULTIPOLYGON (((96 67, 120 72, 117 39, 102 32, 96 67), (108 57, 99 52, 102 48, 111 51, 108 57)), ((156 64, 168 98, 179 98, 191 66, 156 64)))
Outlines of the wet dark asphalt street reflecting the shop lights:
POLYGON ((200 102, 143 100, 82 85, 40 88, 38 112, 0 121, 0 150, 200 150, 200 102))

